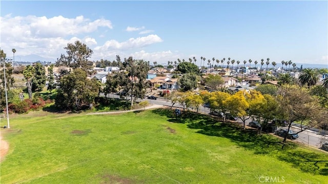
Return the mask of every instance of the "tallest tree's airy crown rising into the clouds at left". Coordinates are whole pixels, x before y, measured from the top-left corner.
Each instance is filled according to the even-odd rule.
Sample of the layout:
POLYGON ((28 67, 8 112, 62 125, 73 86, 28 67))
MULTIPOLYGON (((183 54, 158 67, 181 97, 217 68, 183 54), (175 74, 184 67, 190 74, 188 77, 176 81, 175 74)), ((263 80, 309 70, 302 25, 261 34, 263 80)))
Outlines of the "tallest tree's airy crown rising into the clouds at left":
POLYGON ((61 54, 56 65, 64 65, 73 69, 81 68, 86 72, 92 69, 92 62, 89 58, 93 51, 86 44, 76 41, 74 44, 67 44, 64 49, 67 55, 61 54))

